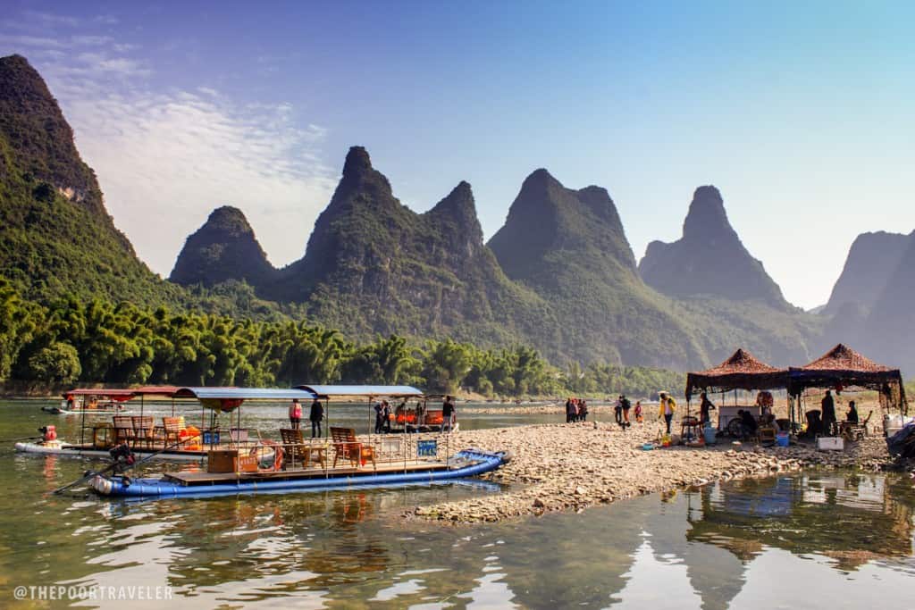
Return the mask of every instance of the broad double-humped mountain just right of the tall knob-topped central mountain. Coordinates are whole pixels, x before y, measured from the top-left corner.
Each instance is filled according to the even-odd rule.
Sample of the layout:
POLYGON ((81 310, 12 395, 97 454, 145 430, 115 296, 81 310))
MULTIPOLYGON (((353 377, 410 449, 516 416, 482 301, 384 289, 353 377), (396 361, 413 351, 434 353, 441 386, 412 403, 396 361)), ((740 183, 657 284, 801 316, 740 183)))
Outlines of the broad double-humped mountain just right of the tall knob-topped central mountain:
POLYGON ((606 189, 566 188, 538 169, 490 248, 512 280, 554 304, 563 320, 556 332, 579 359, 597 350, 604 359, 670 368, 705 360, 692 330, 642 283, 606 189))

